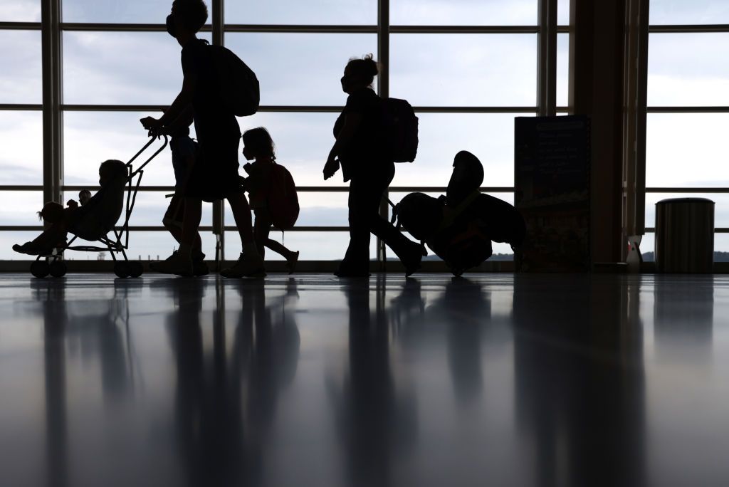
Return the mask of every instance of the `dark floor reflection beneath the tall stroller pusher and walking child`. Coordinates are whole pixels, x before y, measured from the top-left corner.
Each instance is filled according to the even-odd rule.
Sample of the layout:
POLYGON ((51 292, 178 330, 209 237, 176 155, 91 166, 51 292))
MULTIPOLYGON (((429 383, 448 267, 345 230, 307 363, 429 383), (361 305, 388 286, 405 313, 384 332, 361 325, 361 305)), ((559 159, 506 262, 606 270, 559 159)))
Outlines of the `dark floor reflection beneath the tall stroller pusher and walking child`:
POLYGON ((276 415, 278 391, 296 373, 300 346, 295 322, 296 283, 267 297, 263 281, 214 286, 213 346, 206 351, 200 281, 177 280, 166 327, 176 359, 176 445, 190 486, 263 483, 263 450, 276 415), (227 292, 240 308, 226 306, 227 292), (227 318, 237 314, 230 354, 227 318), (228 355, 228 356, 227 356, 228 355), (209 365, 209 367, 207 367, 209 365))

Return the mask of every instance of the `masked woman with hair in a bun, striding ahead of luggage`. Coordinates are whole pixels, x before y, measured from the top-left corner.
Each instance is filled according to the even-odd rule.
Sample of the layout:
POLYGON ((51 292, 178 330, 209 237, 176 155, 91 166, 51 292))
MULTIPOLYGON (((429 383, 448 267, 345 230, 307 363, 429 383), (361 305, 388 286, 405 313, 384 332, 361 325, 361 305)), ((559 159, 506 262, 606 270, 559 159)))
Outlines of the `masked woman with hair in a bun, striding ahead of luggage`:
POLYGON ((372 88, 379 73, 372 55, 351 59, 341 79, 347 104, 334 126, 335 144, 324 165, 324 179, 341 165, 349 182, 349 246, 339 277, 370 275, 370 233, 387 244, 405 265, 405 276, 420 268, 424 249, 379 213, 383 193, 395 175, 393 157, 383 140, 383 103, 372 88))

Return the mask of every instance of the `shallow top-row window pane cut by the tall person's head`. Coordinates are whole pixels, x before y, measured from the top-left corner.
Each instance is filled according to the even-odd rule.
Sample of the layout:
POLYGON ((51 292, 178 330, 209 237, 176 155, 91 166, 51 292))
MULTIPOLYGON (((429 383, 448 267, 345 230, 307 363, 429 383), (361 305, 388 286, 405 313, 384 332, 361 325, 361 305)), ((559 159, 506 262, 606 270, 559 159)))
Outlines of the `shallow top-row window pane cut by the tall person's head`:
MULTIPOLYGON (((64 22, 83 23, 163 24, 172 7, 170 0, 63 0, 61 4, 64 22)), ((211 2, 206 4, 209 12, 211 2)))

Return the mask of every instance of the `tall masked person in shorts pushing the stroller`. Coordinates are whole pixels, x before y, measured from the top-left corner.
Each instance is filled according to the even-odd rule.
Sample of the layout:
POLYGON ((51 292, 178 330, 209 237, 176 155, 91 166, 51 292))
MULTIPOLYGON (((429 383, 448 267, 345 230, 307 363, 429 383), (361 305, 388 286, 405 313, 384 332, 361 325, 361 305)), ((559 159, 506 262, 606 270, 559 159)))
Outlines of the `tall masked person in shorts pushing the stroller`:
POLYGON ((183 193, 184 217, 179 251, 170 259, 159 262, 155 268, 163 273, 191 276, 192 250, 198 238, 202 202, 227 199, 241 235, 243 253, 238 262, 222 274, 229 277, 250 276, 262 272, 263 260, 253 239, 248 200, 238 184, 241 129, 233 110, 226 106, 220 94, 208 42, 197 37, 207 18, 208 9, 202 0, 173 2, 172 12, 167 17, 167 31, 182 46, 182 90, 159 120, 153 117, 141 119, 144 128, 152 133, 165 133, 165 127, 191 111, 200 142, 200 150, 183 193))

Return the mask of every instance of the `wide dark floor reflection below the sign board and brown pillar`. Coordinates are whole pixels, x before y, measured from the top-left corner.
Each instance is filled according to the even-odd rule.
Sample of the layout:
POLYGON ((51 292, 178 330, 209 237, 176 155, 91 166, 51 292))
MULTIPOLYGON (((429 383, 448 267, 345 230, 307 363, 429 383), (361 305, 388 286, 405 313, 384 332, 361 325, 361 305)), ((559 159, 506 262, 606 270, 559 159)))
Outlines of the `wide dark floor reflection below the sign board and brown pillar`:
POLYGON ((561 283, 566 301, 548 281, 514 283, 516 404, 537 485, 644 486, 639 286, 576 276, 561 283))

